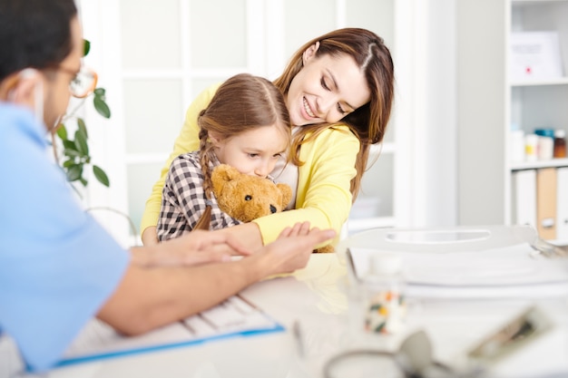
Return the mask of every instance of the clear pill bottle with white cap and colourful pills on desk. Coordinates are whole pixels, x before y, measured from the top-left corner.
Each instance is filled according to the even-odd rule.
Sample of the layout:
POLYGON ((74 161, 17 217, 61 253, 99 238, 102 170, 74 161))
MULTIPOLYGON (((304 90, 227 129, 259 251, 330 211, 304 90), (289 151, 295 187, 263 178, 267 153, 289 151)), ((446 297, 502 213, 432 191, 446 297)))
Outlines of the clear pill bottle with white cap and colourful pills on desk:
POLYGON ((363 284, 365 330, 371 334, 397 334, 406 317, 402 257, 392 253, 369 257, 363 284))

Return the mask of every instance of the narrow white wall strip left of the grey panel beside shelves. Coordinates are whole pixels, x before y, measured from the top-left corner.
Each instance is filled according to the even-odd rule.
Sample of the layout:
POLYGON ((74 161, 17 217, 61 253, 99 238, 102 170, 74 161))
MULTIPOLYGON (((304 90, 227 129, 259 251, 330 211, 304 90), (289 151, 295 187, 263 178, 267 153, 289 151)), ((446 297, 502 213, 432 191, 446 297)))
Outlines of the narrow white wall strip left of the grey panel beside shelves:
POLYGON ((456 224, 455 1, 416 1, 415 226, 456 224))

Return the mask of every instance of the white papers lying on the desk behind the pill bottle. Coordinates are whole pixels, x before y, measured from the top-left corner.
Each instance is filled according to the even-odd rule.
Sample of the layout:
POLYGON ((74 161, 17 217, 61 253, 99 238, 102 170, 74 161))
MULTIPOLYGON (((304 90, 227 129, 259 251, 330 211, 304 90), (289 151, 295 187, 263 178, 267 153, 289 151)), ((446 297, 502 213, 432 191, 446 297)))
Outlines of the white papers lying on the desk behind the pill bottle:
POLYGON ((373 254, 403 257, 410 296, 538 296, 568 294, 568 262, 535 255, 528 244, 453 253, 389 252, 351 247, 354 275, 364 279, 373 254))

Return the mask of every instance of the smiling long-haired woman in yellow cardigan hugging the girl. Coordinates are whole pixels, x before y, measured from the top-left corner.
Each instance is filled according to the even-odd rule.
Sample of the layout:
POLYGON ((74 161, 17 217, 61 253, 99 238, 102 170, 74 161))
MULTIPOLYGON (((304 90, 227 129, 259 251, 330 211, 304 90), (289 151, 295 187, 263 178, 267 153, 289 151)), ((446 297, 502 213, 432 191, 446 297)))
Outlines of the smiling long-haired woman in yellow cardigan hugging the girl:
MULTIPOLYGON (((369 148, 385 135, 394 98, 394 65, 382 38, 367 29, 345 28, 309 41, 293 54, 276 86, 284 93, 294 126, 289 150, 293 164, 272 172, 294 190, 294 208, 226 228, 260 247, 289 225, 308 220, 313 227, 338 231, 346 222, 369 148)), ((162 178, 152 189, 142 218, 142 241, 157 241, 165 175, 171 161, 199 146, 198 114, 217 86, 191 104, 162 178)), ((337 243, 337 239, 334 243, 337 243)))

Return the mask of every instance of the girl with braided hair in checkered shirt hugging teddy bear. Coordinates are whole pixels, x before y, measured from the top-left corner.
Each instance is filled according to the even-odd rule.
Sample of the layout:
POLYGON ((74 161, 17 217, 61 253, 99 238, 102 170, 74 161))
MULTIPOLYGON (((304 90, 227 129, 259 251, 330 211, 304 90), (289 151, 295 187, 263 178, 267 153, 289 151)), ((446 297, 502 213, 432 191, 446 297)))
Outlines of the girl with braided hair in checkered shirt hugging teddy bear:
POLYGON ((223 82, 200 112, 198 125, 199 150, 171 162, 158 219, 161 241, 201 228, 203 222, 206 229, 240 224, 218 207, 211 190, 212 170, 223 163, 266 178, 277 161, 284 160, 291 138, 282 93, 272 82, 248 73, 223 82))

